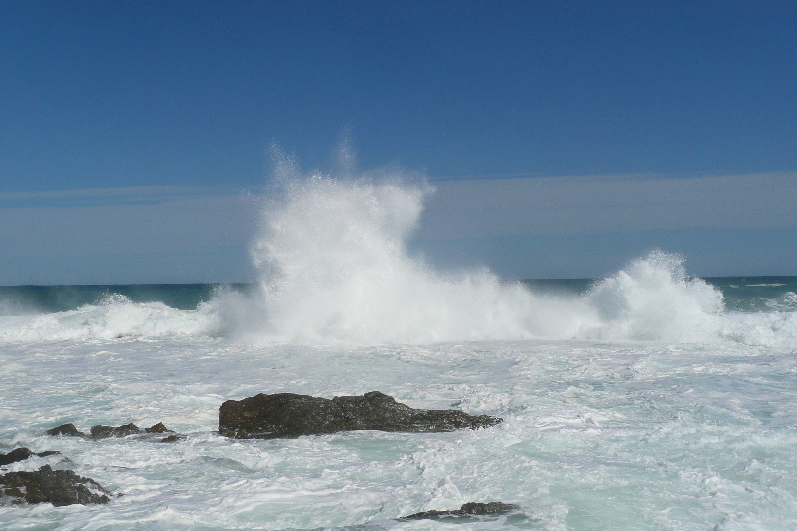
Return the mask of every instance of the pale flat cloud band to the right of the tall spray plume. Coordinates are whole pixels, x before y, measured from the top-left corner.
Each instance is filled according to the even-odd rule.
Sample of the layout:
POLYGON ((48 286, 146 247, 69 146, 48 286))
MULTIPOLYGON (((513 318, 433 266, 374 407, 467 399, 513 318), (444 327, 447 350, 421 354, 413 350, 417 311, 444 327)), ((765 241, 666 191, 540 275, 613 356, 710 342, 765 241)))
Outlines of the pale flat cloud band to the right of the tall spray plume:
POLYGON ((425 238, 797 225, 797 172, 435 182, 425 238))

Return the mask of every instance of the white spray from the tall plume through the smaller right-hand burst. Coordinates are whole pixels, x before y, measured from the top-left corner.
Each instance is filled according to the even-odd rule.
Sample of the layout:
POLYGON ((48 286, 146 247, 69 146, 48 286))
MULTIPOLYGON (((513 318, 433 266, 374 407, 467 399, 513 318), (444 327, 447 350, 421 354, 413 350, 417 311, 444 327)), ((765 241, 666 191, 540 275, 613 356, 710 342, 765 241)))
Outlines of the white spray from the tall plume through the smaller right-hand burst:
MULTIPOLYGON (((584 297, 535 295, 489 271, 441 273, 411 257, 428 185, 293 171, 254 241, 265 320, 248 338, 429 343, 460 339, 697 340, 722 295, 656 251, 584 297)), ((248 322, 251 326, 253 323, 248 322)), ((241 329, 242 330, 242 329, 241 329)))

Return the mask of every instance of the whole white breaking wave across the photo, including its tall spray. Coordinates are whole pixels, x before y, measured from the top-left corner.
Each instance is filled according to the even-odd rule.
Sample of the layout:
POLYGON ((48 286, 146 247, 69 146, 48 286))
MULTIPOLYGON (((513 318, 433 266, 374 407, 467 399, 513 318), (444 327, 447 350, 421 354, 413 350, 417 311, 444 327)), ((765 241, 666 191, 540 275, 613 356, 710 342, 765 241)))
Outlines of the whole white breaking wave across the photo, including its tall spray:
POLYGON ((591 338, 797 345, 793 294, 770 313, 726 312, 721 292, 687 275, 680 256, 651 252, 582 296, 540 295, 486 270, 443 273, 410 256, 406 241, 432 192, 424 183, 321 174, 282 183, 251 248, 259 289, 219 292, 196 310, 116 297, 0 318, 0 340, 223 334, 321 344, 591 338))

